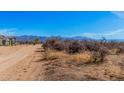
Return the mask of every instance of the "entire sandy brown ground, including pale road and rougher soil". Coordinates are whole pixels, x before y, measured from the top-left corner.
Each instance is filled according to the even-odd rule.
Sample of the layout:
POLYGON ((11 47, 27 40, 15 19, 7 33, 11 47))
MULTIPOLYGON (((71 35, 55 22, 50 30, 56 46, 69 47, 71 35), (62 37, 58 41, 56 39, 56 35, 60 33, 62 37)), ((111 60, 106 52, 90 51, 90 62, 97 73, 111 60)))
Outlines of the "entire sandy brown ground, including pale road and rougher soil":
POLYGON ((41 45, 0 46, 0 80, 124 80, 124 54, 82 65, 43 60, 43 54, 41 45))

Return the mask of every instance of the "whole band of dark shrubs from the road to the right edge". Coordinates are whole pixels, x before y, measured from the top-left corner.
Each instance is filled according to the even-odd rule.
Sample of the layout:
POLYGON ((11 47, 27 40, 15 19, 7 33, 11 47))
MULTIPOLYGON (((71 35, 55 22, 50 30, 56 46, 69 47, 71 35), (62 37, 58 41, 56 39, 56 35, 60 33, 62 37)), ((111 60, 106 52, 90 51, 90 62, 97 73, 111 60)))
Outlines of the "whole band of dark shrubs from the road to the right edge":
MULTIPOLYGON (((124 43, 116 41, 107 41, 103 38, 97 40, 62 40, 60 38, 49 38, 43 43, 45 50, 64 51, 70 55, 84 53, 89 51, 93 55, 93 62, 103 62, 107 54, 124 53, 124 43)), ((79 59, 81 59, 79 56, 79 59)), ((56 55, 57 56, 57 55, 56 55)), ((76 56, 76 55, 75 55, 76 56)), ((75 57, 74 56, 74 57, 75 57)), ((77 60, 78 60, 77 57, 77 60)), ((76 57, 75 57, 76 58, 76 57)))

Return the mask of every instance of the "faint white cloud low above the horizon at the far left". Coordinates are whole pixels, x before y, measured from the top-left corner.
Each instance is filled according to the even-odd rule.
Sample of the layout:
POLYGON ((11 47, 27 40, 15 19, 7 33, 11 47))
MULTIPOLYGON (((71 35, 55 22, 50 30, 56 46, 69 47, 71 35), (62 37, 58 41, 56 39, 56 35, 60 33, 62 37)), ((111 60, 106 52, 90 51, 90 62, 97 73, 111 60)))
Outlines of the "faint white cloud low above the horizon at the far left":
POLYGON ((0 35, 13 36, 16 29, 0 29, 0 35))

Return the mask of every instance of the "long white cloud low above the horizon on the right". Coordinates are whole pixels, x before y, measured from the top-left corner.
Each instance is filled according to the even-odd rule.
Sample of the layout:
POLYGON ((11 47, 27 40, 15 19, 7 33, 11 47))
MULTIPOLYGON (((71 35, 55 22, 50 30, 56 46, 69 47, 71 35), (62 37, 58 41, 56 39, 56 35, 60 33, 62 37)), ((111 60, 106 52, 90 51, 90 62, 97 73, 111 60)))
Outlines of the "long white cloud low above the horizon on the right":
POLYGON ((124 29, 117 29, 113 31, 107 31, 104 33, 83 33, 83 36, 89 38, 106 37, 108 39, 124 39, 124 29))

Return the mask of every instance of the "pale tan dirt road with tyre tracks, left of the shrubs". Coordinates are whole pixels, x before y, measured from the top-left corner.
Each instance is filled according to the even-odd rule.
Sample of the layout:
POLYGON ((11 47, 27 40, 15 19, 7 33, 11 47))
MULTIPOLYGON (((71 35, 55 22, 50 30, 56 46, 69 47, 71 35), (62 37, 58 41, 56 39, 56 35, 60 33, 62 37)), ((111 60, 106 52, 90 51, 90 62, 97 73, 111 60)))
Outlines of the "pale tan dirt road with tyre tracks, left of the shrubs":
POLYGON ((0 46, 0 80, 41 80, 41 45, 0 46))

